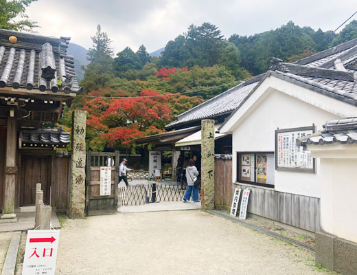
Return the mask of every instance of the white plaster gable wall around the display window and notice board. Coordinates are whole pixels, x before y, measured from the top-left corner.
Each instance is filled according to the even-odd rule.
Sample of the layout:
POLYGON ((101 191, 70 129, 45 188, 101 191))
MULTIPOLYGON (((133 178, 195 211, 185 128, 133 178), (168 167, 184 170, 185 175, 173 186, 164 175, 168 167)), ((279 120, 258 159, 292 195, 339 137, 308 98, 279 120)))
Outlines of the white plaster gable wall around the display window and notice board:
MULTIPOLYGON (((311 91, 314 93, 313 91, 311 91)), ((237 181, 237 152, 275 151, 275 130, 316 125, 319 131, 337 115, 269 87, 235 124, 233 135, 233 182, 237 181)), ((319 159, 316 173, 275 170, 275 190, 309 197, 320 197, 319 159)))

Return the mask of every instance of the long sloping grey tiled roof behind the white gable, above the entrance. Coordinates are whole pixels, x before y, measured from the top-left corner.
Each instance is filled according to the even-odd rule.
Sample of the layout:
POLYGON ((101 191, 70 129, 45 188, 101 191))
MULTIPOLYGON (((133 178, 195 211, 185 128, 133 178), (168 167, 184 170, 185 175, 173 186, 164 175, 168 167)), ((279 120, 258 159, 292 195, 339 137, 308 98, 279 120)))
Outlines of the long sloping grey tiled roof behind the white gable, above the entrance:
POLYGON ((241 83, 228 91, 224 91, 222 94, 203 102, 202 104, 181 113, 177 116, 177 120, 166 125, 166 129, 170 129, 173 126, 185 124, 187 122, 193 122, 196 120, 202 120, 204 118, 214 118, 217 115, 224 113, 230 113, 236 109, 246 96, 257 86, 261 76, 252 78, 245 83, 241 83))

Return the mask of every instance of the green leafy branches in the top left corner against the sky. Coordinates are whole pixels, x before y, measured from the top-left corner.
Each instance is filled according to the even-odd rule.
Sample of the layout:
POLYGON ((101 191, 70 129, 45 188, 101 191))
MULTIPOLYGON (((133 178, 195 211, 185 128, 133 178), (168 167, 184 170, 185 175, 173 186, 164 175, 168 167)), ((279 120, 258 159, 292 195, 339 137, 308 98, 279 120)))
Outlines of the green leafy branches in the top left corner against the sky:
POLYGON ((37 28, 37 22, 28 19, 25 14, 26 8, 37 0, 12 0, 0 1, 0 29, 30 31, 37 28), (15 20, 16 17, 21 18, 15 20))

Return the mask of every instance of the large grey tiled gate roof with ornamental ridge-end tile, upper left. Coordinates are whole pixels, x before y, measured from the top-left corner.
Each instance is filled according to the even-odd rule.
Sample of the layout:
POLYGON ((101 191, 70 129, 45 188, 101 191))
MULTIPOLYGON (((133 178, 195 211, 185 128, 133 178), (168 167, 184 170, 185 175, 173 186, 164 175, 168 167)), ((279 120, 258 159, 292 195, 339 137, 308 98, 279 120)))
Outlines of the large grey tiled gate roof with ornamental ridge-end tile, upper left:
POLYGON ((0 88, 80 93, 69 39, 0 30, 0 88))

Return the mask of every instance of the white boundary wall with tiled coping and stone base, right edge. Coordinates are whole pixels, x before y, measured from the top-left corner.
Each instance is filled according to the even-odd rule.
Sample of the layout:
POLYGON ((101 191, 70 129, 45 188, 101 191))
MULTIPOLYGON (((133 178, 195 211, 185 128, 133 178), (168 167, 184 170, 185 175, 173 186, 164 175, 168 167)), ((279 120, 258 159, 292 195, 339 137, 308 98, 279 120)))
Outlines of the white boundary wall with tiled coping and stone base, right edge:
POLYGON ((357 274, 357 118, 330 120, 323 128, 297 141, 320 159, 321 232, 316 232, 316 264, 357 274))

